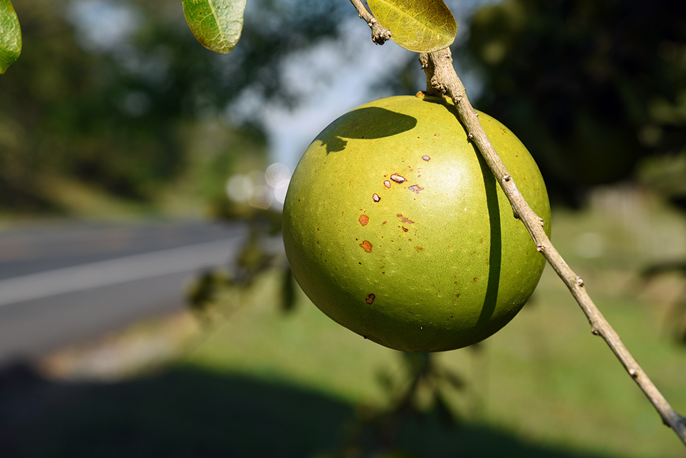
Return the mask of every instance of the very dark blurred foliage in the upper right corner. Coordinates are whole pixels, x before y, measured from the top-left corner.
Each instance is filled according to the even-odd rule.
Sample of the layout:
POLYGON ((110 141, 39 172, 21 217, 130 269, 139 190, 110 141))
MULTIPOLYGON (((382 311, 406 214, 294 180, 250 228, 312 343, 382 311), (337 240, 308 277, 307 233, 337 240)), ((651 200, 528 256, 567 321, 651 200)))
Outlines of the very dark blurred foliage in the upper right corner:
POLYGON ((558 199, 686 146, 686 3, 507 0, 471 22, 476 105, 509 126, 558 199))

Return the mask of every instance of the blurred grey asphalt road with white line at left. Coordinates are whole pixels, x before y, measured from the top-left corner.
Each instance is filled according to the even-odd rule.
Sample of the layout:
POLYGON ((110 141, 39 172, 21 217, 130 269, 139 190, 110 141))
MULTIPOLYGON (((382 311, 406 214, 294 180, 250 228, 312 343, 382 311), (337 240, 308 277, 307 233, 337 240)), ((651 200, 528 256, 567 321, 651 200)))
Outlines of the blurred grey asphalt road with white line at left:
POLYGON ((0 366, 181 310, 186 282, 227 265, 243 236, 203 222, 0 231, 0 366))

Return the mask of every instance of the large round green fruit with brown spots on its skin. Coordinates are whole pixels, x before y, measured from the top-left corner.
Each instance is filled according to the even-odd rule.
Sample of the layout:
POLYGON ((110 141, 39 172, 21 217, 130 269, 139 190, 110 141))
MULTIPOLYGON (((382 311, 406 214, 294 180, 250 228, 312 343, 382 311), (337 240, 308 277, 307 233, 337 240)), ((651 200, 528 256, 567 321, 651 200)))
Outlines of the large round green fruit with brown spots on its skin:
MULTIPOLYGON (((386 347, 438 352, 507 324, 545 267, 529 232, 444 98, 369 102, 312 141, 284 203, 290 268, 331 319, 386 347)), ((479 120, 550 236, 534 159, 479 120)))

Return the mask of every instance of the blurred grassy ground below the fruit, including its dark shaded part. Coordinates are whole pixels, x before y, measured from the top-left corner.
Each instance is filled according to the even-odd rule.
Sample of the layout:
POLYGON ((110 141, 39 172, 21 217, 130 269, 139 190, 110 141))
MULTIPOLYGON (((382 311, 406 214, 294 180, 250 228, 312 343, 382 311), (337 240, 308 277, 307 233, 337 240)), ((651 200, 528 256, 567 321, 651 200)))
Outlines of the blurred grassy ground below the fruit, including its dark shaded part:
MULTIPOLYGON (((636 196, 617 204, 626 198, 608 193, 588 211, 556 211, 553 242, 643 369, 685 413, 686 346, 674 342, 665 321, 683 279, 646 283, 637 274, 686 256, 685 222, 636 196), (631 224, 635 218, 645 220, 631 224), (660 251, 665 240, 671 248, 660 251)), ((359 433, 365 412, 388 404, 379 380, 400 377, 400 353, 341 328, 302 295, 284 314, 276 290, 267 275, 240 306, 236 293, 227 293, 225 319, 185 338, 170 362, 144 365, 123 380, 60 381, 21 371, 1 378, 5 385, 23 380, 10 392, 30 408, 12 416, 0 402, 0 426, 10 432, 0 435, 0 448, 12 457, 336 456, 359 433)), ((407 422, 400 429, 406 455, 384 456, 684 456, 549 267, 501 332, 477 349, 435 358, 466 382, 447 396, 457 427, 433 415, 407 422)), ((382 456, 343 450, 351 458, 382 456)))

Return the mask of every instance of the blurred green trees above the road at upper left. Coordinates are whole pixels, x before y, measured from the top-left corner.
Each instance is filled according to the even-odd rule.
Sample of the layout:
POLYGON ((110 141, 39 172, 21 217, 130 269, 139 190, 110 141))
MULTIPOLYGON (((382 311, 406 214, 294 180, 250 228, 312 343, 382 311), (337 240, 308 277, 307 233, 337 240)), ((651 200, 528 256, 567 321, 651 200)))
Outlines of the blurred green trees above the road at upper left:
POLYGON ((261 128, 231 128, 226 111, 245 89, 293 103, 279 65, 290 52, 335 34, 338 7, 250 3, 240 47, 229 56, 197 43, 180 2, 16 5, 24 52, 0 79, 0 208, 59 210, 43 176, 155 198, 192 168, 190 137, 212 119, 231 132, 205 170, 223 172, 215 183, 220 192, 242 156, 264 161, 261 128))

